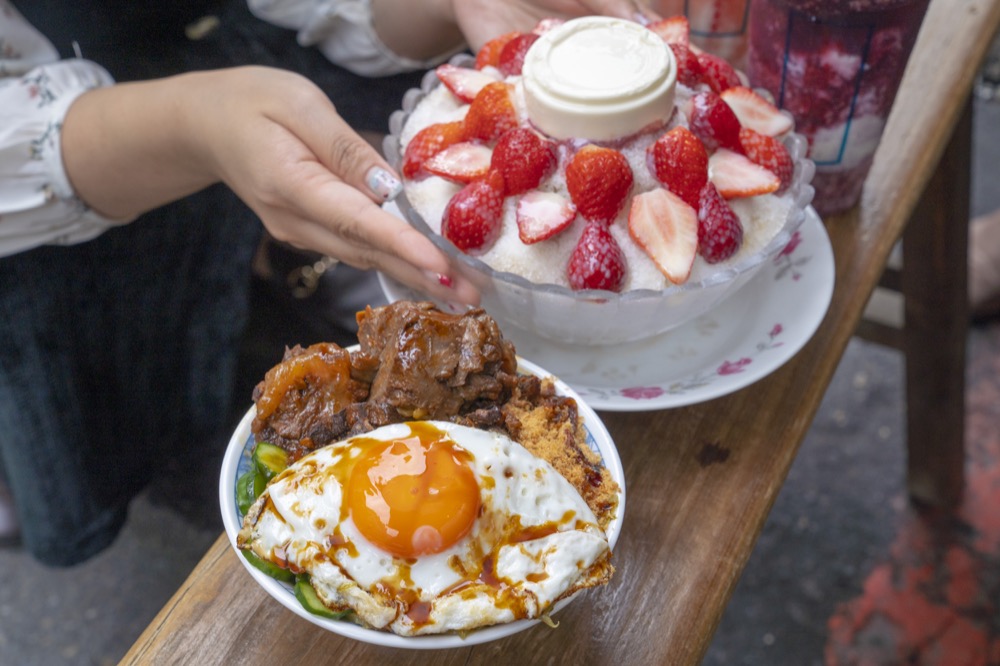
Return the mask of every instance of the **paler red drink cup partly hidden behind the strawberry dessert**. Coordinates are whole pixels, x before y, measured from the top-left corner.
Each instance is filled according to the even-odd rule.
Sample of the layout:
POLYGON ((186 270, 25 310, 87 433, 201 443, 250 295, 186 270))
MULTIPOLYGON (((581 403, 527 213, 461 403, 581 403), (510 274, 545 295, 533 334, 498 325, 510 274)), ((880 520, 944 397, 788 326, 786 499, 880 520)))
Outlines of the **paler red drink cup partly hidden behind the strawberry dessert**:
POLYGON ((653 0, 660 16, 687 16, 695 46, 745 69, 751 0, 653 0))

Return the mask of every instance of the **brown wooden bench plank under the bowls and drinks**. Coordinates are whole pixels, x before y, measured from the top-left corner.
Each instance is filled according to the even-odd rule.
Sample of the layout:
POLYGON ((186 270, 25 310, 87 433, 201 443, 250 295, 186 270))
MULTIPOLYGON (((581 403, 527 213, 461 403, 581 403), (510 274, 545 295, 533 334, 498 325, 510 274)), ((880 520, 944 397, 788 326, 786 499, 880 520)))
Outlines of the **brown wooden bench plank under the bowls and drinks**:
POLYGON ((429 652, 343 639, 268 597, 222 536, 123 663, 699 663, 998 25, 1000 1, 932 0, 862 204, 826 220, 830 310, 789 363, 710 402, 601 415, 626 478, 617 571, 561 611, 558 628, 429 652))

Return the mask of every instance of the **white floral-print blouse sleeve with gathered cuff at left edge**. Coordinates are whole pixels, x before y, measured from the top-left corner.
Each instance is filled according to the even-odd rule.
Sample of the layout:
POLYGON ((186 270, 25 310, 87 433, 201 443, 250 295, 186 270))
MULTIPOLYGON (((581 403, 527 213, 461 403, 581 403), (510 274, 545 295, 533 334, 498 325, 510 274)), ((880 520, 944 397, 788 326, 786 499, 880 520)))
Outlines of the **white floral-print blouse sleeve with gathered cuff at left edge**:
POLYGON ((111 83, 92 62, 59 61, 53 46, 0 0, 0 257, 79 243, 122 223, 77 198, 61 156, 70 104, 111 83))

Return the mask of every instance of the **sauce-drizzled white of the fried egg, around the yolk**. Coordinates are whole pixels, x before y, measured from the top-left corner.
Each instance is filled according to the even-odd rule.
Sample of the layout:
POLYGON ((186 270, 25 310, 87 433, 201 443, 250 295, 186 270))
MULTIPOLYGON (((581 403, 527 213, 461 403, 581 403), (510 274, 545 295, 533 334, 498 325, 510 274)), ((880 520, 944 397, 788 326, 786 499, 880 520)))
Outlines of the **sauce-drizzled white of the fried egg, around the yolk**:
POLYGON ((470 532, 446 550, 402 559, 341 520, 344 490, 329 470, 358 456, 363 440, 410 434, 407 424, 379 428, 331 444, 290 466, 267 487, 244 520, 242 539, 259 557, 285 560, 310 574, 319 597, 333 608, 350 607, 360 621, 411 636, 464 631, 538 617, 577 589, 610 573, 607 536, 576 489, 548 462, 504 435, 434 422, 471 454, 482 509, 470 532), (504 531, 555 526, 556 531, 504 543, 504 531), (327 548, 336 532, 348 547, 327 548), (484 554, 493 553, 497 588, 478 581, 484 554), (332 555, 332 557, 328 556, 332 555), (470 584, 459 569, 473 572, 470 584), (426 619, 415 622, 405 604, 386 589, 405 590, 426 602, 426 619))

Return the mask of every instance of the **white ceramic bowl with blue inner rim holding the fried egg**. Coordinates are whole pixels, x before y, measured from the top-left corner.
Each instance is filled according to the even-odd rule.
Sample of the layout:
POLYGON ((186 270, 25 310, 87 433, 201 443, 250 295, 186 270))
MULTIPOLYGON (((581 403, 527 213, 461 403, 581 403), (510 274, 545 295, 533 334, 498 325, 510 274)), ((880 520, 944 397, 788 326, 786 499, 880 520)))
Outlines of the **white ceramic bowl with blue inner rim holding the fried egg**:
MULTIPOLYGON (((534 363, 530 363, 522 358, 518 358, 517 362, 518 372, 522 374, 532 374, 539 377, 548 377, 550 375, 550 373, 546 372, 534 363)), ((597 416, 597 413, 594 412, 593 409, 587 406, 576 391, 571 389, 566 383, 559 379, 555 379, 555 386, 556 392, 559 395, 567 396, 576 400, 576 404, 580 409, 580 415, 583 417, 584 426, 587 429, 587 444, 591 447, 591 449, 601 454, 604 466, 611 474, 611 478, 615 480, 618 487, 621 489, 618 496, 618 511, 614 519, 608 525, 607 529, 608 543, 611 545, 611 549, 613 551, 615 543, 618 541, 618 535, 621 533, 622 518, 625 515, 625 473, 622 470, 621 459, 618 457, 618 450, 615 448, 615 444, 611 440, 611 435, 608 434, 608 430, 604 427, 604 423, 601 421, 600 417, 597 416)), ((524 631, 525 629, 529 629, 536 624, 539 624, 539 620, 518 620, 509 624, 499 624, 492 627, 477 629, 469 632, 464 637, 457 634, 442 634, 436 636, 397 636, 396 634, 386 631, 365 629, 364 627, 360 627, 352 622, 329 620, 307 611, 295 598, 295 593, 292 591, 291 585, 281 583, 255 568, 247 562, 246 558, 239 554, 239 550, 236 548, 236 534, 239 532, 243 522, 243 516, 240 514, 239 509, 236 506, 236 480, 241 474, 249 470, 252 465, 250 457, 253 453, 254 441, 253 434, 250 432, 250 423, 253 421, 255 413, 255 409, 251 407, 244 415, 239 426, 237 426, 236 431, 233 433, 232 438, 229 440, 229 445, 226 448, 226 455, 222 461, 222 471, 219 477, 219 505, 222 509, 222 523, 226 529, 226 534, 229 537, 229 542, 232 544, 233 549, 236 550, 240 562, 243 563, 247 571, 250 572, 250 575, 253 576, 254 580, 257 581, 257 583, 263 587, 269 595, 281 603, 281 605, 288 608, 296 615, 305 618, 309 622, 312 622, 323 629, 348 638, 388 647, 423 650, 469 647, 470 645, 486 643, 505 636, 510 636, 511 634, 524 631)), ((559 609, 563 608, 567 603, 576 599, 578 596, 580 596, 581 599, 577 603, 586 603, 587 593, 587 590, 581 590, 572 597, 563 599, 555 605, 554 612, 559 611, 559 609)), ((594 594, 595 592, 590 593, 594 594)))

